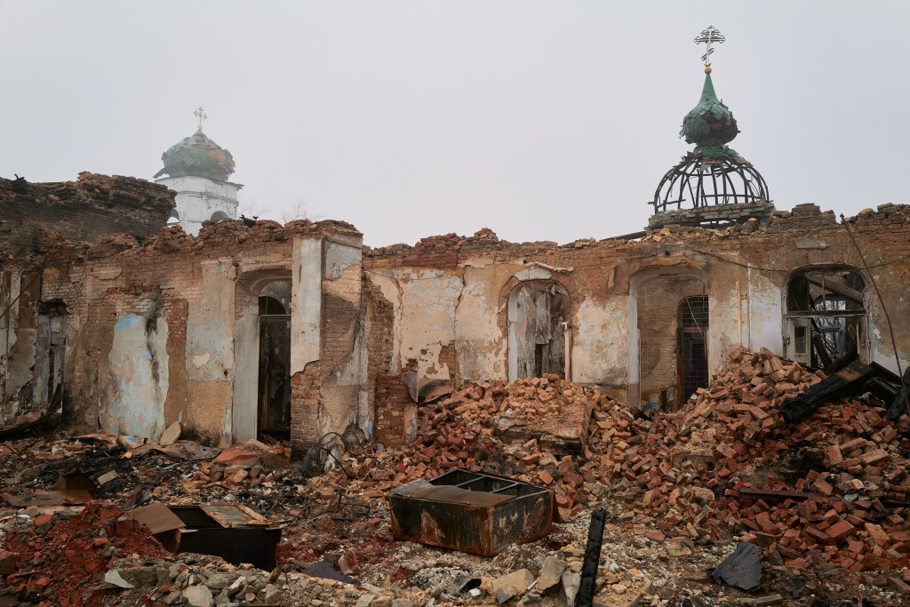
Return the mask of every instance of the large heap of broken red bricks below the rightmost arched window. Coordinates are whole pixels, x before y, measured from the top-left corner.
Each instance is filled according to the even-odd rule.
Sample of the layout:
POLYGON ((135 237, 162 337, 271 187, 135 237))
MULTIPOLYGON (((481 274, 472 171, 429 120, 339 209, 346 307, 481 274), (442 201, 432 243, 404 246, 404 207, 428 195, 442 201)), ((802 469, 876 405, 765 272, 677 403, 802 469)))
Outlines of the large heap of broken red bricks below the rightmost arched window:
POLYGON ((784 422, 784 400, 823 377, 767 350, 737 349, 681 410, 632 427, 615 413, 615 425, 604 424, 592 448, 602 451, 614 491, 630 502, 622 518, 650 519, 655 539, 742 536, 794 566, 827 561, 861 572, 910 564, 910 441, 884 410, 842 399, 802 422, 784 422), (806 450, 824 458, 797 478, 754 478, 806 450), (748 488, 773 495, 756 499, 744 495, 748 488), (895 507, 885 506, 886 497, 895 507))

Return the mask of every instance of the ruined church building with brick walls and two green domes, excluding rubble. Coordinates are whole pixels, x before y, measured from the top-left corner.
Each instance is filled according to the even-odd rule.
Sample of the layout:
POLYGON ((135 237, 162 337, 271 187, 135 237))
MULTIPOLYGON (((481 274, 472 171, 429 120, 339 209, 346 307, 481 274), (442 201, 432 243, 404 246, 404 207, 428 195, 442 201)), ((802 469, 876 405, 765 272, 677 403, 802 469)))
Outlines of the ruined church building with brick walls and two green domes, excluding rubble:
POLYGON ((368 248, 341 221, 234 219, 233 157, 201 122, 158 183, 2 180, 0 426, 61 407, 80 430, 179 421, 300 454, 332 433, 412 440, 421 404, 472 380, 553 375, 675 410, 739 346, 904 369, 910 207, 775 208, 737 133, 706 74, 648 226, 565 245, 484 228, 368 248))

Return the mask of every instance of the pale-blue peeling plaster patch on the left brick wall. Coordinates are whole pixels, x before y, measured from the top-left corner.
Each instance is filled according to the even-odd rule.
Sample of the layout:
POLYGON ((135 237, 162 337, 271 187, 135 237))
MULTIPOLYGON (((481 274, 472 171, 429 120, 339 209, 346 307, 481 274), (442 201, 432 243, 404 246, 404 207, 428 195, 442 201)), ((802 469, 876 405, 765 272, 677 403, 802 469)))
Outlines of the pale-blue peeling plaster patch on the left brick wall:
POLYGON ((113 398, 101 407, 101 430, 157 437, 165 429, 167 322, 127 314, 114 326, 108 353, 113 398))

